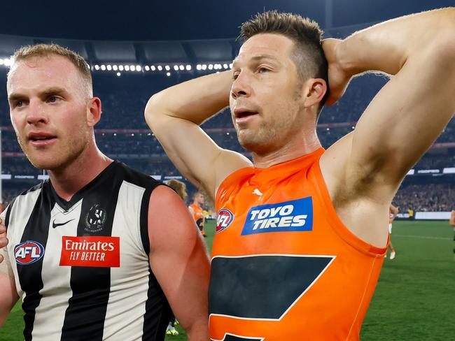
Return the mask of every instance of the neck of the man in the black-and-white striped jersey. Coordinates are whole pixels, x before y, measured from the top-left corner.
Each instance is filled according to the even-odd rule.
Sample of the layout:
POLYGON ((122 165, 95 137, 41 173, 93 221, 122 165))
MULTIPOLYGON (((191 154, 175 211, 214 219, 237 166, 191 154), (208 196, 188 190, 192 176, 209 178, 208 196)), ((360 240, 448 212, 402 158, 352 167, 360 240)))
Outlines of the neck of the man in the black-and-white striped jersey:
POLYGON ((60 198, 70 201, 77 191, 102 173, 112 160, 95 146, 87 147, 68 166, 58 170, 48 170, 50 182, 60 198))

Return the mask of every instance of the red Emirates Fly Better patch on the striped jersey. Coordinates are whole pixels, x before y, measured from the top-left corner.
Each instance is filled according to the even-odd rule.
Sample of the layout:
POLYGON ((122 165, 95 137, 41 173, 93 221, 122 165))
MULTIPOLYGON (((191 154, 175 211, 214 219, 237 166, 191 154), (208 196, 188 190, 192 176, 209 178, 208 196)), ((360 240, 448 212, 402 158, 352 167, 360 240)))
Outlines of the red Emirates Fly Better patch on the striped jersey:
POLYGON ((60 266, 118 268, 120 237, 62 237, 60 266))

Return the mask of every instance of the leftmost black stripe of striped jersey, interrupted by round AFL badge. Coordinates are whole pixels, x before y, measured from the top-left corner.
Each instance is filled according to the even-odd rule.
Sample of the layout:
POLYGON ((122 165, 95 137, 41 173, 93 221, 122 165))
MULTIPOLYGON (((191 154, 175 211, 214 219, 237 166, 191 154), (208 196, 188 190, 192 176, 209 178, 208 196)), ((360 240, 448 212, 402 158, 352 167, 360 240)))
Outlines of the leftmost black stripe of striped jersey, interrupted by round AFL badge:
MULTIPOLYGON (((49 182, 43 184, 43 189, 47 186, 49 186, 49 182)), ((43 245, 44 250, 48 240, 50 212, 55 205, 55 201, 46 193, 48 192, 43 190, 41 191, 41 194, 39 194, 21 238, 21 242, 26 242, 27 240, 39 242, 43 245)), ((39 293, 39 291, 43 289, 43 279, 41 277, 42 269, 43 257, 31 264, 18 264, 19 283, 22 290, 25 291, 25 298, 22 303, 22 309, 25 312, 25 341, 31 340, 36 307, 38 307, 42 298, 39 293), (38 277, 36 274, 40 274, 40 276, 38 277)))

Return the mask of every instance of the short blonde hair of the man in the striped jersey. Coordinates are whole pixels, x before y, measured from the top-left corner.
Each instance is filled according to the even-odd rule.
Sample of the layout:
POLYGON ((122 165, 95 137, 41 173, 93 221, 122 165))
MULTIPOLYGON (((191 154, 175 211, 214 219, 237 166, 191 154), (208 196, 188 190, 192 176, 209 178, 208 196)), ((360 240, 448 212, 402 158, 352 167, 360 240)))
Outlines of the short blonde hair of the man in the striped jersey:
MULTIPOLYGON (((36 45, 26 45, 22 46, 14 52, 12 56, 14 65, 18 61, 23 61, 33 58, 46 58, 51 56, 62 56, 69 61, 71 64, 76 66, 80 75, 86 82, 88 95, 93 96, 93 85, 92 85, 92 73, 90 72, 90 66, 88 66, 85 59, 78 53, 64 48, 63 46, 57 44, 36 44, 36 45)), ((8 73, 9 76, 9 73, 8 73)))

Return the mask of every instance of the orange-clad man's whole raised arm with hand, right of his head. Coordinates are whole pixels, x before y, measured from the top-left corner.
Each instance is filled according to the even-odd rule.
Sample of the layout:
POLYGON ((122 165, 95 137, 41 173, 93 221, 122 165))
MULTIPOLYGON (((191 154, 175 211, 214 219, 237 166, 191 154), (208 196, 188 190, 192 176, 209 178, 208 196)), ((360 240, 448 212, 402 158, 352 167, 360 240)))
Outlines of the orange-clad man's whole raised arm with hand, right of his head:
POLYGON ((454 114, 455 9, 389 20, 344 41, 328 40, 324 50, 329 61, 328 103, 342 95, 353 75, 394 75, 353 133, 332 145, 321 160, 334 202, 362 196, 388 206, 409 168, 454 114))

